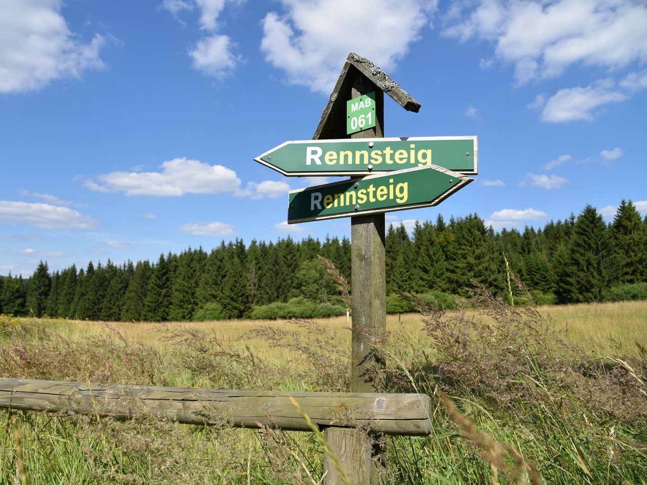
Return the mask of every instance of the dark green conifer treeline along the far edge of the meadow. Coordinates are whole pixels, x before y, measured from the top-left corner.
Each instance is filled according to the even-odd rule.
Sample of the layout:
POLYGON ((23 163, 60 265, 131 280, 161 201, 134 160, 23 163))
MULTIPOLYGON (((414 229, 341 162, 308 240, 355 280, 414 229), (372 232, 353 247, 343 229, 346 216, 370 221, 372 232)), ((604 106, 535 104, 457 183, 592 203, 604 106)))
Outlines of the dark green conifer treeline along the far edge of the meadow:
MULTIPOLYGON (((0 277, 0 313, 178 321, 269 315, 291 302, 323 314, 342 312, 318 255, 350 281, 351 245, 336 237, 254 240, 248 246, 236 239, 210 252, 161 254, 154 263, 116 266, 108 260, 54 274, 41 261, 28 279, 0 277)), ((476 214, 448 222, 439 215, 417 223, 411 237, 402 224, 389 226, 387 293, 464 296, 477 282, 505 296, 506 260, 539 303, 647 298, 647 217, 623 200, 610 224, 586 206, 578 217, 523 232, 494 232, 476 214)))

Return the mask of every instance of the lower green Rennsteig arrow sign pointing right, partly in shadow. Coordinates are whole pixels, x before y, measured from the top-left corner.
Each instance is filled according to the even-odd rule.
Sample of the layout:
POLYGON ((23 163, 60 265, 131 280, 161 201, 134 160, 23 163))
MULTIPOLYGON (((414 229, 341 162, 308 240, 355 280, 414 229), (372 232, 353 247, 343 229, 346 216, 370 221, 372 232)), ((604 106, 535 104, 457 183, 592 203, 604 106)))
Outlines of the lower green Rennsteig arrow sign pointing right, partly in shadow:
POLYGON ((431 165, 292 190, 288 224, 435 206, 472 182, 431 165))

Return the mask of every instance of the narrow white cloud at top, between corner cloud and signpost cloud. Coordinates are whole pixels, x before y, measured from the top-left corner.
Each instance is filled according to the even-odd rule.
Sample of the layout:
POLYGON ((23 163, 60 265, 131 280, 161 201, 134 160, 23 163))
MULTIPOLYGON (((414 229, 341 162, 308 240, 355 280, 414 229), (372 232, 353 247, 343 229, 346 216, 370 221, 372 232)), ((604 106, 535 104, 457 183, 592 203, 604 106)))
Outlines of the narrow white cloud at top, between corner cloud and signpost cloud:
POLYGON ((235 43, 230 37, 216 32, 221 27, 218 22, 220 14, 225 5, 232 1, 243 3, 244 0, 164 0, 161 5, 176 18, 182 10, 192 11, 195 6, 199 8, 200 29, 206 32, 206 35, 188 50, 188 54, 193 59, 195 69, 218 80, 230 74, 242 60, 232 52, 235 43))

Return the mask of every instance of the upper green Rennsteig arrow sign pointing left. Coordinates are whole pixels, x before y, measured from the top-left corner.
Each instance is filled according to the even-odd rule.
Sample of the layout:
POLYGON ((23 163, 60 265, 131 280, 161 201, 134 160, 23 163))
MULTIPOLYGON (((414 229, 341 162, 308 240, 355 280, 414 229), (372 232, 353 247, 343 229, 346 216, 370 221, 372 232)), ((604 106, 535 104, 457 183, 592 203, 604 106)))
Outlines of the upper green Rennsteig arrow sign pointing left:
POLYGON ((360 138, 285 142, 254 160, 288 176, 368 175, 437 165, 478 172, 476 136, 360 138))

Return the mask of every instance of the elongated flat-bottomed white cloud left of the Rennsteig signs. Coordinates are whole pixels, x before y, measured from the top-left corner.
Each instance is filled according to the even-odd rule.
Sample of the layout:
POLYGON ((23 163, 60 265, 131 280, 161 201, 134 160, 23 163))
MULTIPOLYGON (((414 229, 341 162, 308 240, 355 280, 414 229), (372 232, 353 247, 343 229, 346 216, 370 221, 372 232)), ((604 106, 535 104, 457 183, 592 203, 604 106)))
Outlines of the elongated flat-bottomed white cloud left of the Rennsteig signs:
POLYGON ((185 193, 215 194, 235 192, 241 184, 236 172, 221 165, 199 160, 174 158, 161 165, 160 172, 111 172, 99 175, 99 184, 86 180, 85 187, 124 195, 181 197, 185 193))

